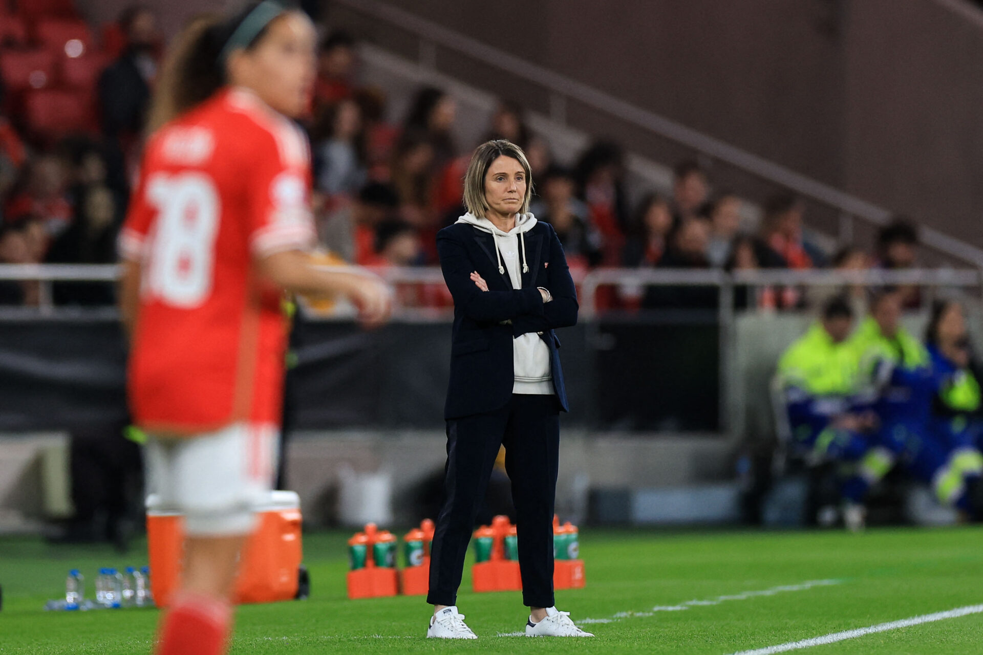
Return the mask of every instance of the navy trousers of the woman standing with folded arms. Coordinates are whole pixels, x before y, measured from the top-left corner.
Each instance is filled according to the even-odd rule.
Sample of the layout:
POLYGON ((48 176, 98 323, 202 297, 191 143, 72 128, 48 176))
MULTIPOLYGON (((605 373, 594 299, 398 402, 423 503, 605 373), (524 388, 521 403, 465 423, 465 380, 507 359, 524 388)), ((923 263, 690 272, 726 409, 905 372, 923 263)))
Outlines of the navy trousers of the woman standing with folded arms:
POLYGON ((552 607, 552 517, 559 465, 559 407, 555 396, 513 394, 505 407, 447 421, 443 508, 431 553, 433 605, 456 605, 464 556, 498 447, 512 483, 522 601, 552 607))

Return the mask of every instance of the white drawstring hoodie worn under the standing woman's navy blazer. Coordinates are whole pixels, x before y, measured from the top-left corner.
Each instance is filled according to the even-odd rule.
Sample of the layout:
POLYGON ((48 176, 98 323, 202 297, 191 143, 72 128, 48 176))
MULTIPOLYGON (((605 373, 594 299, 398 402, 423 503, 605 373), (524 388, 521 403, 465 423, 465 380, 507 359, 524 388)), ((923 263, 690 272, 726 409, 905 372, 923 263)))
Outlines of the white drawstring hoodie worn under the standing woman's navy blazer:
MULTIPOLYGON (((522 272, 529 270, 524 235, 536 225, 536 217, 532 214, 516 215, 515 227, 511 232, 502 232, 489 219, 479 218, 470 212, 457 219, 457 222, 467 223, 492 235, 498 272, 504 273, 507 270, 512 289, 522 289, 522 272)), ((556 393, 552 386, 549 348, 535 332, 527 332, 512 340, 512 366, 515 371, 513 394, 546 396, 556 393)))

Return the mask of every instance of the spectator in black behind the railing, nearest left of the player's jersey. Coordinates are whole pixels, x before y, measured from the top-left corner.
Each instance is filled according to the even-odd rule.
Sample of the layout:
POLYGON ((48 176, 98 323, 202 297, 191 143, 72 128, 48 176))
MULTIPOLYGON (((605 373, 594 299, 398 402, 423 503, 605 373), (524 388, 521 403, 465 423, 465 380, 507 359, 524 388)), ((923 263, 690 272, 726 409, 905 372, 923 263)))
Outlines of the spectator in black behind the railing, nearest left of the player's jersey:
MULTIPOLYGON (((117 260, 116 234, 119 211, 108 187, 87 187, 79 198, 72 226, 48 250, 49 263, 112 264, 117 260)), ((112 285, 98 282, 60 282, 53 285, 57 304, 108 305, 115 296, 112 285)))

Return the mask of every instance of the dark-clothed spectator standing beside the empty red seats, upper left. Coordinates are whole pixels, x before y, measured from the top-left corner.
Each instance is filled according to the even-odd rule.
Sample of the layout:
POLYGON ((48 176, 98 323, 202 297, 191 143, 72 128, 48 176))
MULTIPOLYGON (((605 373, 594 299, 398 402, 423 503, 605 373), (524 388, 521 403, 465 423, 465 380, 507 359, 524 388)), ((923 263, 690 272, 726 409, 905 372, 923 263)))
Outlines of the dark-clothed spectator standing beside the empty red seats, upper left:
POLYGON ((110 141, 111 165, 125 168, 125 157, 144 130, 150 88, 157 76, 160 33, 157 15, 133 5, 123 12, 120 27, 126 48, 98 82, 102 133, 110 141))

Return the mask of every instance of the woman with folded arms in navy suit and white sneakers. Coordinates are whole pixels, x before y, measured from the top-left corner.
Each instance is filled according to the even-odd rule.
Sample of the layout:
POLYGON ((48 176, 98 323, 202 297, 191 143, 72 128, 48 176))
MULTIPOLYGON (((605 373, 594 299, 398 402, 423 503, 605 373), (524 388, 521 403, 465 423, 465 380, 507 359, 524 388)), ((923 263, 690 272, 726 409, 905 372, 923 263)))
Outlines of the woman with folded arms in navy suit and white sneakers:
POLYGON ((528 636, 593 636, 553 602, 552 516, 559 411, 567 410, 553 328, 577 322, 563 248, 529 212, 529 162, 493 140, 475 150, 464 180, 468 213, 437 234, 454 297, 444 490, 434 533, 429 637, 476 639, 455 605, 464 555, 498 448, 518 516, 528 636))

